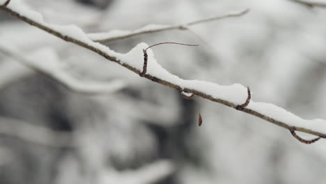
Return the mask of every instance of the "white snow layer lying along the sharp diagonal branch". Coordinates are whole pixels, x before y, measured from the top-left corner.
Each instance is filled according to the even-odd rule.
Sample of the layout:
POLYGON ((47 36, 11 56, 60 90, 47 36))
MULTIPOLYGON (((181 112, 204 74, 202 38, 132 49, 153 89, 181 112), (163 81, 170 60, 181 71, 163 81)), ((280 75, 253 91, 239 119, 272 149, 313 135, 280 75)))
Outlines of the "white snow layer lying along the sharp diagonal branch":
MULTIPOLYGON (((96 35, 93 35, 92 37, 92 35, 88 34, 87 36, 86 33, 84 33, 84 31, 79 29, 79 27, 77 26, 73 26, 73 25, 58 26, 53 24, 47 24, 42 20, 42 16, 40 14, 29 10, 28 8, 26 8, 26 6, 22 6, 20 1, 18 0, 11 1, 8 8, 17 11, 21 15, 29 17, 30 19, 35 20, 40 24, 48 26, 51 29, 59 31, 60 33, 63 33, 63 35, 71 36, 72 38, 80 40, 81 42, 84 42, 87 45, 91 45, 92 47, 100 49, 102 52, 105 52, 110 56, 115 56, 119 61, 121 61, 120 62, 121 64, 125 63, 134 68, 137 68, 139 71, 142 70, 142 66, 143 66, 142 49, 148 47, 146 43, 139 43, 136 47, 131 49, 130 52, 127 52, 127 54, 116 53, 113 50, 109 49, 109 47, 101 45, 100 43, 93 42, 90 39, 90 37, 94 39, 96 35)), ((159 27, 160 26, 156 26, 156 29, 158 29, 159 27)), ((148 26, 143 29, 153 29, 153 28, 155 28, 155 26, 148 26)), ((127 33, 127 32, 116 31, 114 34, 115 36, 117 36, 123 33, 127 33)), ((99 36, 98 38, 100 37, 101 36, 99 36)), ((162 79, 166 82, 176 84, 180 86, 182 89, 193 89, 196 91, 201 91, 202 93, 211 95, 213 98, 219 98, 222 100, 233 102, 235 105, 242 104, 247 99, 247 88, 242 86, 241 84, 221 86, 219 84, 214 84, 212 82, 180 79, 180 77, 176 75, 172 75, 170 72, 162 68, 162 66, 160 66, 159 63, 157 63, 151 49, 148 49, 147 53, 148 53, 147 74, 149 75, 155 76, 158 79, 162 79)), ((266 116, 270 116, 270 118, 274 118, 278 121, 282 121, 288 125, 307 128, 316 132, 323 132, 324 134, 326 134, 325 120, 321 120, 321 119, 305 120, 303 118, 300 118, 299 116, 296 116, 295 114, 286 111, 285 109, 282 109, 281 107, 277 107, 276 105, 263 103, 263 102, 254 102, 252 100, 247 108, 252 109, 261 114, 265 114, 266 116)))

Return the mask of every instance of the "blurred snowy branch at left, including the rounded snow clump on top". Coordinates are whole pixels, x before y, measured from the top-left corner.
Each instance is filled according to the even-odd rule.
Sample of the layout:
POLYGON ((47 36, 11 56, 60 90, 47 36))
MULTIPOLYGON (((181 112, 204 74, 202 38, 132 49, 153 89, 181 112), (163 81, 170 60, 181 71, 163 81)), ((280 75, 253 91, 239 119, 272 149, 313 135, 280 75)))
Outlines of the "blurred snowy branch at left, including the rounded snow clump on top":
POLYGON ((107 83, 94 83, 94 82, 79 82, 77 79, 71 77, 60 67, 56 54, 52 49, 41 49, 36 55, 38 59, 27 59, 19 52, 13 49, 8 49, 0 43, 0 52, 6 54, 15 60, 19 61, 22 65, 39 72, 42 75, 54 79, 67 89, 75 91, 77 93, 84 94, 102 94, 102 93, 114 93, 119 91, 127 84, 122 80, 115 79, 107 83), (46 61, 45 61, 46 59, 46 61))

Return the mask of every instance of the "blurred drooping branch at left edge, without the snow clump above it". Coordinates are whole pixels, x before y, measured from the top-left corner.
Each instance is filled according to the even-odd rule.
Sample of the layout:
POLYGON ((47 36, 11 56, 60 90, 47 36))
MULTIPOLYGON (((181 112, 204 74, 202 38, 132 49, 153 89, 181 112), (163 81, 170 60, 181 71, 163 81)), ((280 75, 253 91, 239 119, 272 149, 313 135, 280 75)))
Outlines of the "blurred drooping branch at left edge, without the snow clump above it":
POLYGON ((36 62, 30 61, 26 59, 26 57, 22 56, 19 52, 15 52, 11 49, 5 48, 0 45, 0 52, 6 54, 10 57, 13 57, 16 61, 19 61, 22 65, 39 72, 42 75, 45 75, 49 78, 54 79, 56 82, 59 82, 67 89, 75 91, 77 93, 83 93, 88 95, 102 94, 102 93, 114 93, 123 89, 126 84, 121 80, 113 80, 109 83, 102 84, 84 84, 78 82, 77 79, 70 77, 65 72, 60 70, 54 70, 54 68, 44 68, 44 66, 38 65, 36 62))

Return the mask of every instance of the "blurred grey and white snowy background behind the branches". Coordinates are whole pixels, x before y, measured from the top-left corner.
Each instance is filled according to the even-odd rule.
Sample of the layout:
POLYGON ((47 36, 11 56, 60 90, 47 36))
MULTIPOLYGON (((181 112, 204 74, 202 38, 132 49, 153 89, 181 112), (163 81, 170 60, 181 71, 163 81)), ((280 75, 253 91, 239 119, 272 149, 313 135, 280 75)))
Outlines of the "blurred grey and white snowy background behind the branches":
MULTIPOLYGON (((15 1, 15 0, 12 0, 15 1)), ((326 119, 326 9, 290 0, 25 0, 53 24, 86 33, 180 24, 233 10, 247 15, 190 31, 105 43, 154 47, 185 79, 249 85, 255 101, 326 119)), ((288 130, 215 102, 186 100, 86 49, 0 11, 1 47, 55 62, 80 82, 121 79, 124 89, 85 95, 0 52, 0 183, 325 183, 326 141, 305 145, 288 130), (199 112, 203 125, 198 127, 199 112)))

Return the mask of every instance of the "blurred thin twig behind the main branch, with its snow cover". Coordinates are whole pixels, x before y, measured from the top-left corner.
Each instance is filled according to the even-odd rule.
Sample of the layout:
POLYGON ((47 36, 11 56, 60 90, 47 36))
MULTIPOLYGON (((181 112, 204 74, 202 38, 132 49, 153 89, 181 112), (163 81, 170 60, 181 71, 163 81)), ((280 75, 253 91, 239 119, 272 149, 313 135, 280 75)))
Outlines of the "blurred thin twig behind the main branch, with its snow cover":
POLYGON ((113 30, 109 32, 104 33, 88 33, 88 38, 91 38, 91 40, 95 42, 105 43, 112 40, 119 40, 123 38, 129 38, 132 36, 137 36, 143 33, 155 33, 160 31, 167 31, 171 29, 180 29, 180 30, 188 30, 189 26, 193 26, 195 24, 201 24, 203 22, 210 22, 213 20, 219 20, 226 17, 239 17, 241 15, 246 14, 249 11, 249 9, 244 9, 240 11, 234 11, 230 13, 226 13, 224 15, 217 15, 214 17, 208 17, 201 20, 195 20, 192 22, 187 22, 185 24, 176 24, 176 25, 160 25, 160 24, 149 24, 146 26, 143 26, 140 29, 136 29, 134 31, 125 31, 125 30, 113 30))

